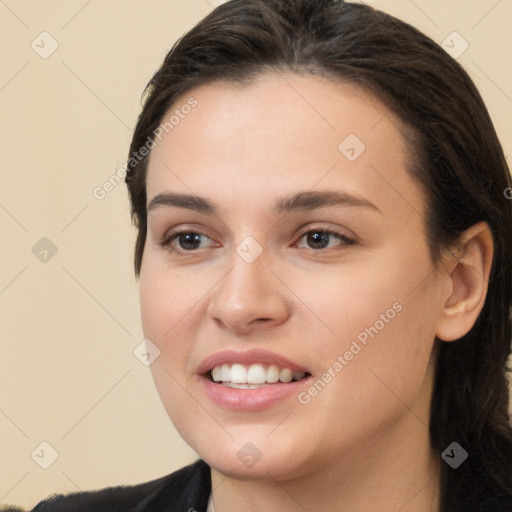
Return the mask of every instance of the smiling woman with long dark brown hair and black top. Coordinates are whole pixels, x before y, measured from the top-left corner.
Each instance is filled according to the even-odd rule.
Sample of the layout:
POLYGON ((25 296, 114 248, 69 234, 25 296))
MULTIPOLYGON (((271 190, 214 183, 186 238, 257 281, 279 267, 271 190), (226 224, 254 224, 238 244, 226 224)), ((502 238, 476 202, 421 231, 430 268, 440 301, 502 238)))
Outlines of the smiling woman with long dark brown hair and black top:
POLYGON ((511 182, 466 72, 368 6, 233 0, 126 182, 152 373, 200 460, 35 511, 510 511, 511 182))

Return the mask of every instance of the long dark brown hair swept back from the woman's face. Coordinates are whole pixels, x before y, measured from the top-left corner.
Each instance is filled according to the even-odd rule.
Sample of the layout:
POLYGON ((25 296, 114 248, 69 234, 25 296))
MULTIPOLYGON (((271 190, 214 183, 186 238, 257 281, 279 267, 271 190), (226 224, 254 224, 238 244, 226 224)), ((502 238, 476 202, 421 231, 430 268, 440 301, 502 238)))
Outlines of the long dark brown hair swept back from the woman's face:
POLYGON ((489 224, 495 255, 483 311, 460 340, 436 340, 430 437, 439 454, 453 441, 469 453, 456 470, 442 465, 443 511, 467 512, 491 495, 509 503, 512 201, 505 191, 510 174, 470 77, 415 28, 342 0, 232 0, 187 32, 146 88, 130 147, 126 183, 138 228, 136 274, 147 230, 147 157, 134 155, 185 92, 215 80, 247 82, 268 70, 328 74, 359 84, 402 120, 414 155, 409 172, 428 201, 434 263, 465 229, 479 221, 489 224))

